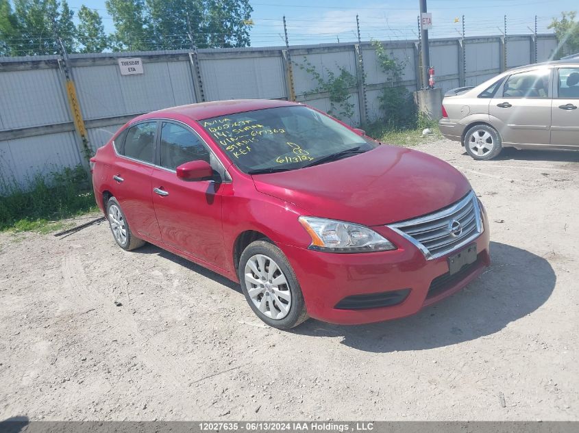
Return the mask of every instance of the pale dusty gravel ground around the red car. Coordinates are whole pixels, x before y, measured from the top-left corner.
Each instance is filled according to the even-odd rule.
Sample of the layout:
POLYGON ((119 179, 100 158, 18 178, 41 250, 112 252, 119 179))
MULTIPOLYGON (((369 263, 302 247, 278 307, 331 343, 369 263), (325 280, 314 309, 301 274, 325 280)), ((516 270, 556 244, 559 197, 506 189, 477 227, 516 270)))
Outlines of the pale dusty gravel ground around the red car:
POLYGON ((418 149, 481 196, 493 265, 393 322, 282 332, 106 224, 0 234, 0 420, 578 420, 579 153, 418 149))

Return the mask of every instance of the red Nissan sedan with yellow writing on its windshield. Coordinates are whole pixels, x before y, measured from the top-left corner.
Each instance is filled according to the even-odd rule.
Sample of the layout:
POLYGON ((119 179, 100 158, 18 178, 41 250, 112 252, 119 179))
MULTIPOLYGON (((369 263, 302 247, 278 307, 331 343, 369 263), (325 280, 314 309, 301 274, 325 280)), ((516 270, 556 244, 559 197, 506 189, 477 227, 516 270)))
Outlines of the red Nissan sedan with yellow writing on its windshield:
POLYGON ((411 315, 490 263, 463 174, 299 103, 155 111, 91 162, 121 248, 147 241, 238 281, 275 328, 411 315))

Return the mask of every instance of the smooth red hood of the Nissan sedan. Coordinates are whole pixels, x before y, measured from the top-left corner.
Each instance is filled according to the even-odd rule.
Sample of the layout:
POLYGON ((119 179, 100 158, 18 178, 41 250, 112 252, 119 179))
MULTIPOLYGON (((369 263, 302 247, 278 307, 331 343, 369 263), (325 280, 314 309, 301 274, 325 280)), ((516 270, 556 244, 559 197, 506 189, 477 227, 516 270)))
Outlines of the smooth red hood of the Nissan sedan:
POLYGON ((366 226, 415 218, 456 202, 469 182, 441 159, 381 145, 319 166, 253 176, 256 189, 304 214, 366 226))

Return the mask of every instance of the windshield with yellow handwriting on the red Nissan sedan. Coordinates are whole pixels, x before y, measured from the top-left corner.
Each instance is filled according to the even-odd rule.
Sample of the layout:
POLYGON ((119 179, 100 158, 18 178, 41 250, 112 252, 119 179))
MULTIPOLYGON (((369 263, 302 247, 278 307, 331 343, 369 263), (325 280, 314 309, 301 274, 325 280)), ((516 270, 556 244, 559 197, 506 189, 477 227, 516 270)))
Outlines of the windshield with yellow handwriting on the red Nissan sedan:
POLYGON ((295 170, 378 146, 303 106, 247 111, 199 123, 235 165, 249 174, 295 170))

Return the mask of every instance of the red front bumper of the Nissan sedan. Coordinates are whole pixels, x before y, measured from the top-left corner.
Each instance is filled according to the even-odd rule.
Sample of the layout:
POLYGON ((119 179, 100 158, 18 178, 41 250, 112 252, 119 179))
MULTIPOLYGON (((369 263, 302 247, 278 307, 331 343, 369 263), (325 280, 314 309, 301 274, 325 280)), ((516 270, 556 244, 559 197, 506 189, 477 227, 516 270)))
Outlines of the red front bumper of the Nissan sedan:
POLYGON ((483 224, 483 233, 471 242, 477 247, 477 261, 454 276, 447 274, 447 257, 460 249, 426 260, 410 241, 393 231, 383 233, 397 245, 393 251, 336 254, 286 245, 280 248, 295 271, 310 317, 334 324, 367 324, 415 314, 463 289, 480 275, 491 263, 486 215, 483 224), (388 291, 404 293, 404 289, 409 289, 406 298, 392 306, 336 308, 348 297, 388 291))

